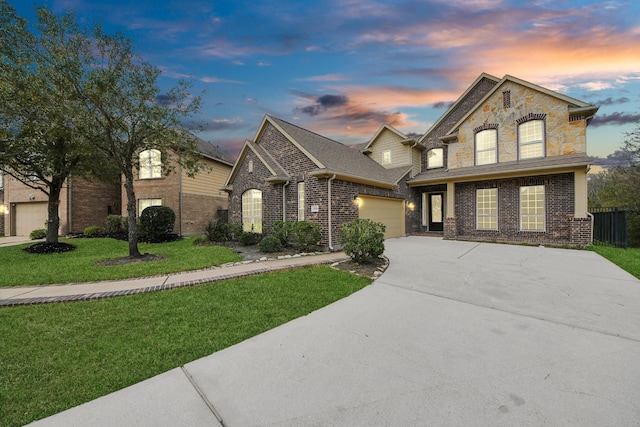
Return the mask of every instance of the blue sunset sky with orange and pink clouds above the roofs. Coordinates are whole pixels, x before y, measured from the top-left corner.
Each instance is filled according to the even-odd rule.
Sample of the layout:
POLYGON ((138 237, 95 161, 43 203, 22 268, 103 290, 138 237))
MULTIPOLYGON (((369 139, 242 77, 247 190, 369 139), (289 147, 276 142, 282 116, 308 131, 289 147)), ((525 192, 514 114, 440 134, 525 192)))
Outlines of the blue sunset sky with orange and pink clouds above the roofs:
POLYGON ((640 119, 640 2, 564 0, 9 0, 73 11, 203 94, 199 136, 237 154, 264 114, 346 144, 382 123, 426 132, 482 73, 601 105, 588 154, 640 119))

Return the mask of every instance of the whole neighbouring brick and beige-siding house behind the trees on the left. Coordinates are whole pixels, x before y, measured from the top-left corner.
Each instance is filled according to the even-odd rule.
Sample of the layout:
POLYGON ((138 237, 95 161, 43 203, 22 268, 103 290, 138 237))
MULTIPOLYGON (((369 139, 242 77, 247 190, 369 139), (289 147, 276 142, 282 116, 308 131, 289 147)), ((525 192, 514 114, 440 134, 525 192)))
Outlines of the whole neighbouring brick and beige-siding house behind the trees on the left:
MULTIPOLYGON (((165 205, 176 213, 175 231, 201 233, 207 221, 226 210, 227 195, 220 190, 231 171, 233 160, 217 147, 198 140, 206 168, 189 177, 178 168, 163 175, 162 153, 150 150, 141 155, 138 179, 134 182, 138 215, 147 206, 165 205)), ((28 236, 46 228, 47 196, 10 176, 4 177, 4 233, 28 236)), ((60 234, 82 233, 90 225, 104 226, 108 215, 126 215, 126 196, 121 184, 88 181, 71 177, 60 195, 60 234)))

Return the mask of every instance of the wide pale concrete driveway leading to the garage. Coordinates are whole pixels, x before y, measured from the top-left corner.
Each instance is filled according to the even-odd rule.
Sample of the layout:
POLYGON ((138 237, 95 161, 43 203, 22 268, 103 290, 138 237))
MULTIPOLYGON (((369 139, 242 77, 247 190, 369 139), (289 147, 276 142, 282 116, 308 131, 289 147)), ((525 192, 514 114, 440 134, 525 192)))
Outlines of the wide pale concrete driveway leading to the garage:
POLYGON ((351 297, 42 425, 640 424, 640 281, 588 251, 386 247, 351 297))

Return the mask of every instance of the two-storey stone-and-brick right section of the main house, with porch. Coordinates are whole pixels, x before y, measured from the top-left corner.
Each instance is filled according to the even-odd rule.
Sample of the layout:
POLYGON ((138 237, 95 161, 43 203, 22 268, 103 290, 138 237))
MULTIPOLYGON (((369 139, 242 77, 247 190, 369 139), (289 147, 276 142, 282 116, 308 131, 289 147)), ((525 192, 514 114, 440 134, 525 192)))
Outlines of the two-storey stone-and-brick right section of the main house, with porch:
POLYGON ((451 239, 590 243, 586 128, 597 110, 512 76, 481 75, 420 139, 423 172, 407 185, 422 194, 424 229, 451 239), (441 166, 430 163, 439 157, 441 166))

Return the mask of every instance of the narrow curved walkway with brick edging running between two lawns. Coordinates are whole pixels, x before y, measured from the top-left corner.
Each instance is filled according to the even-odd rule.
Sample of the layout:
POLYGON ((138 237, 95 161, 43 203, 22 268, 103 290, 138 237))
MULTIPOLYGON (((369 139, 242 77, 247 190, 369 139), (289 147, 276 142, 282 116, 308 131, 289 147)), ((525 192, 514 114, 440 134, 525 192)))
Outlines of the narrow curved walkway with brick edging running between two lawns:
POLYGON ((218 280, 250 276, 268 271, 284 270, 305 265, 331 264, 347 260, 344 252, 320 255, 293 255, 289 258, 266 261, 244 261, 203 270, 164 274, 139 279, 74 284, 14 286, 0 288, 0 306, 46 304, 53 302, 85 301, 132 295, 144 292, 181 288, 218 280))

